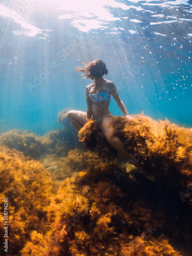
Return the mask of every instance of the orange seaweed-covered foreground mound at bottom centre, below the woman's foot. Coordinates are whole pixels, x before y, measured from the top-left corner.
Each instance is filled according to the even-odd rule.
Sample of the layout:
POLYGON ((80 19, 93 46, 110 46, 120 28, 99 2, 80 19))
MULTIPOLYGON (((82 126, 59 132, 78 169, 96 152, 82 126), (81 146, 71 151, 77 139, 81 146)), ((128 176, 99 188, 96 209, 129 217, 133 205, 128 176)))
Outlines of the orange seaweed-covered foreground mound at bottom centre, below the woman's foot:
POLYGON ((48 206, 50 230, 31 232, 27 255, 182 255, 163 235, 162 212, 153 210, 142 184, 121 181, 115 163, 90 166, 63 181, 48 206))

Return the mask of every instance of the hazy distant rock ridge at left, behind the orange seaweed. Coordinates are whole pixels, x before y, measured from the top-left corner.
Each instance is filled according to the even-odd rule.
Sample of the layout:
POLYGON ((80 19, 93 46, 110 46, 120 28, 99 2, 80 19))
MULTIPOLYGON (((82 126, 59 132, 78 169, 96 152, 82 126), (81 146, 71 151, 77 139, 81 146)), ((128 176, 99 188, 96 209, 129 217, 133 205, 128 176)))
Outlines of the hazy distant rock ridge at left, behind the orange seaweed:
POLYGON ((77 136, 65 129, 51 131, 44 136, 12 130, 0 136, 0 145, 6 145, 10 149, 15 148, 35 160, 41 160, 45 156, 67 155, 70 150, 80 147, 77 136))

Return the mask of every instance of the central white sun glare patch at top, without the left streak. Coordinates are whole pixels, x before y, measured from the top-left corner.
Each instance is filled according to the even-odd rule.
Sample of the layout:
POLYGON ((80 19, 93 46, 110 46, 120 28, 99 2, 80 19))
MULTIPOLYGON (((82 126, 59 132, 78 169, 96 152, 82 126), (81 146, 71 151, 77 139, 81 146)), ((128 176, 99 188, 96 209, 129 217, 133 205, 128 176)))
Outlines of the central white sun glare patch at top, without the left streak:
POLYGON ((109 7, 127 9, 126 5, 115 0, 71 0, 65 3, 62 0, 38 0, 35 3, 42 11, 45 5, 50 4, 59 13, 59 19, 71 19, 70 24, 83 32, 104 29, 107 23, 119 19, 110 13, 109 7))

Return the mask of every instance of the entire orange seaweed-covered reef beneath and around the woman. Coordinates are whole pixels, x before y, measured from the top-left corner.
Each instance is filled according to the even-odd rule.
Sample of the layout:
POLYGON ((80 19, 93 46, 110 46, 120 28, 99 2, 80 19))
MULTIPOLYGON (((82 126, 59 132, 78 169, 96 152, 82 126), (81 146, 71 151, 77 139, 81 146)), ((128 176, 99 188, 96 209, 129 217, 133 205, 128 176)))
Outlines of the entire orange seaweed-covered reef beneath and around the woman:
MULTIPOLYGON (((111 125, 125 148, 140 155, 155 182, 133 165, 120 166, 93 120, 79 138, 91 150, 98 146, 98 153, 76 148, 68 155, 42 154, 39 160, 47 169, 0 147, 0 207, 7 197, 9 255, 191 255, 191 129, 143 115, 132 116, 131 122, 117 117, 111 125), (55 183, 48 169, 65 179, 62 184, 55 183)), ((55 136, 51 134, 48 145, 55 136)), ((17 135, 13 133, 12 145, 19 137, 28 143, 27 134, 16 140, 17 135)), ((11 136, 3 141, 10 143, 11 136)), ((1 240, 3 227, 2 210, 1 240)))

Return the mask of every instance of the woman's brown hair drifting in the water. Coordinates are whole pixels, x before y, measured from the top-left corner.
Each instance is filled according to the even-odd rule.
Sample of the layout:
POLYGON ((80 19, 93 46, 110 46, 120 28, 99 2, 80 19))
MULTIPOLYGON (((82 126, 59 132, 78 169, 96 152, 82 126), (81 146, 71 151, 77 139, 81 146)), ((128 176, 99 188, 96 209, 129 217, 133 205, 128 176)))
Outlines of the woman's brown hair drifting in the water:
POLYGON ((82 64, 84 68, 76 68, 76 70, 85 73, 83 78, 91 78, 94 80, 94 77, 98 78, 108 74, 105 63, 100 59, 96 59, 88 63, 82 62, 82 64))

